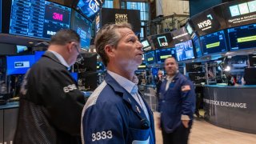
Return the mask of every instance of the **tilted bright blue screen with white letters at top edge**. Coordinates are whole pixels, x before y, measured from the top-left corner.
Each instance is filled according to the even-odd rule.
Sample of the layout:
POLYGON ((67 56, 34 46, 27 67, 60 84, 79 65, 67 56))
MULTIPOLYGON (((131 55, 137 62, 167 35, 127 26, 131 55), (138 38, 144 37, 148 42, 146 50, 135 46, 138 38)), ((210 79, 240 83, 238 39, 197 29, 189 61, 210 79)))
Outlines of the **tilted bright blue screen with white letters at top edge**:
POLYGON ((103 2, 103 0, 79 0, 76 9, 80 10, 91 21, 94 21, 103 2))

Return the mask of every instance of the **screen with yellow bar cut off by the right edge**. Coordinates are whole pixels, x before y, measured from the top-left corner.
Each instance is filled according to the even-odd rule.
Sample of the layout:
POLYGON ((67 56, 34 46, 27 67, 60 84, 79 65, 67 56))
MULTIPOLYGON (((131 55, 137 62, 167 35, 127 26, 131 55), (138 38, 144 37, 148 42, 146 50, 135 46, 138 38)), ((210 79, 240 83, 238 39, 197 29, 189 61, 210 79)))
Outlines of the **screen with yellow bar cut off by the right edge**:
POLYGON ((256 24, 230 28, 227 32, 231 51, 256 47, 256 24))

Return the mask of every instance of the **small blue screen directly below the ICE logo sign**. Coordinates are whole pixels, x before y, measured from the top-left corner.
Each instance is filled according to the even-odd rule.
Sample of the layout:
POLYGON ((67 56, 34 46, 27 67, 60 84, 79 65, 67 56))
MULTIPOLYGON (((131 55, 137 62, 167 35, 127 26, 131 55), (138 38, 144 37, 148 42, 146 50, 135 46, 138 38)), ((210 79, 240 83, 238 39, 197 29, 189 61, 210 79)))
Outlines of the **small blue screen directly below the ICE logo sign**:
MULTIPOLYGON (((168 57, 176 57, 175 48, 155 50, 156 62, 163 63, 168 57)), ((175 58, 176 59, 176 58, 175 58)))

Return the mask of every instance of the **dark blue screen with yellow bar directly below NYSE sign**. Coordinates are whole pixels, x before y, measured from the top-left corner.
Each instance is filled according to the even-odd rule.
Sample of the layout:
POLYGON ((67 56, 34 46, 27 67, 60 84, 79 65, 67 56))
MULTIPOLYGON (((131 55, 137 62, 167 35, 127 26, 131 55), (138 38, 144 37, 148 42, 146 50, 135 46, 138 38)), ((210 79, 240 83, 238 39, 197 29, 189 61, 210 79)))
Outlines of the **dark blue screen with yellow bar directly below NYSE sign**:
POLYGON ((204 55, 226 51, 226 40, 223 30, 202 36, 200 41, 204 55))

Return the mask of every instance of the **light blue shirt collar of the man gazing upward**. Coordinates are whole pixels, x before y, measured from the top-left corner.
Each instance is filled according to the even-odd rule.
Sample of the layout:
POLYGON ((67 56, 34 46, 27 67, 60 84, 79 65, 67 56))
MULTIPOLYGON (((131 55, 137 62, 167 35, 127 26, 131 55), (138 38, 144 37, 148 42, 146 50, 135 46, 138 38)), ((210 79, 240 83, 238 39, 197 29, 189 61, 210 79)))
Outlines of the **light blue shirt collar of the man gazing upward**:
POLYGON ((135 91, 138 91, 138 78, 135 75, 132 80, 133 82, 131 82, 129 79, 124 78, 121 75, 116 74, 110 70, 107 70, 107 73, 110 74, 110 76, 113 77, 114 80, 116 80, 118 84, 122 86, 125 90, 127 90, 129 93, 134 93, 135 91))

